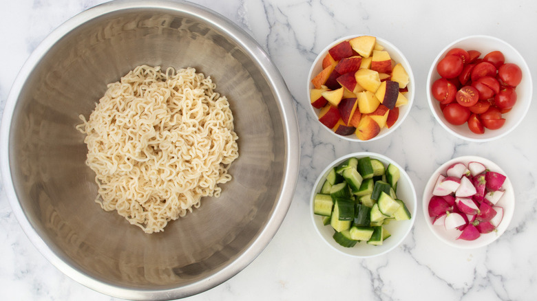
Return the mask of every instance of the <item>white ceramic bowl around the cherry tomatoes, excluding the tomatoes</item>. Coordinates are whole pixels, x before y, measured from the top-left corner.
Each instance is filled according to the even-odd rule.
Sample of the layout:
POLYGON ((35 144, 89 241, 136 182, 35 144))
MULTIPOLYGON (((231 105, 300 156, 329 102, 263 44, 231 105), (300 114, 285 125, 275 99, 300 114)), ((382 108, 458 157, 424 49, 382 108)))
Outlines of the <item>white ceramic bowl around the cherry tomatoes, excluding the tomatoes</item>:
POLYGON ((491 140, 496 140, 513 131, 525 117, 529 109, 529 105, 531 104, 532 93, 533 84, 531 83, 531 74, 524 58, 520 55, 520 53, 518 53, 516 49, 514 49, 514 47, 499 38, 495 38, 494 36, 466 36, 464 38, 460 38, 459 40, 454 41, 453 43, 450 43, 450 45, 442 49, 439 55, 436 56, 436 58, 434 59, 427 78, 427 98, 429 107, 432 111, 432 115, 434 115, 434 118, 436 118, 439 124, 441 124, 441 126, 443 126, 446 131, 463 140, 468 140, 472 142, 487 142, 491 140), (439 61, 445 56, 446 53, 448 53, 450 49, 456 47, 465 50, 477 50, 478 52, 481 52, 481 58, 489 52, 499 50, 505 56, 506 63, 515 63, 516 65, 518 65, 518 67, 520 67, 520 69, 522 69, 522 82, 520 82, 520 85, 516 87, 516 104, 511 111, 503 114, 503 118, 505 118, 505 124, 500 129, 485 129, 485 133, 480 135, 470 131, 470 129, 468 129, 467 123, 462 124, 460 126, 450 124, 444 118, 444 115, 440 109, 439 101, 434 99, 434 97, 431 95, 430 87, 432 86, 432 83, 440 78, 438 72, 436 72, 436 65, 438 65, 439 61))

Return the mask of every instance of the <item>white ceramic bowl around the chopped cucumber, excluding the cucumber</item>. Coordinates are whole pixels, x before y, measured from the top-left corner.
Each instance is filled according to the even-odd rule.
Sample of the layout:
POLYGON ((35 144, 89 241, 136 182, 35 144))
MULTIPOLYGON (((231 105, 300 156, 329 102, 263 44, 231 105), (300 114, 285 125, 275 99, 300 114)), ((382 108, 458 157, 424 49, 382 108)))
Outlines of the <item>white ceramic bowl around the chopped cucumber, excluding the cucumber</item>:
POLYGON ((328 166, 323 170, 323 172, 321 172, 321 175, 319 175, 317 181, 315 181, 315 186, 313 186, 313 190, 310 196, 311 221, 313 222, 315 230, 317 231, 319 236, 321 236, 322 241, 327 243, 337 252, 346 254, 348 256, 354 256, 357 258, 368 258, 386 254, 392 249, 394 249, 394 247, 397 247, 399 244, 401 244, 401 242, 406 238, 406 236, 412 229, 412 225, 414 225, 414 221, 416 219, 416 208, 416 190, 414 190, 414 185, 412 184, 412 180, 410 180, 408 174, 395 161, 377 153, 351 153, 338 159, 335 159, 335 161, 328 164, 328 166), (357 243, 354 247, 342 247, 341 245, 336 243, 334 241, 334 238, 332 237, 334 234, 334 229, 330 225, 323 225, 322 216, 313 214, 313 199, 315 199, 315 194, 321 191, 323 183, 326 179, 326 175, 328 175, 328 172, 330 172, 330 170, 334 166, 339 165, 341 162, 345 161, 350 157, 370 157, 372 159, 379 159, 383 162, 384 166, 388 166, 388 164, 394 164, 394 166, 397 166, 397 168, 399 168, 399 171, 401 172, 401 178, 397 183, 397 197, 405 202, 408 211, 410 211, 410 214, 412 214, 412 218, 408 221, 392 221, 388 225, 386 225, 386 230, 388 230, 388 232, 390 232, 392 236, 390 236, 390 238, 384 241, 382 245, 368 245, 362 242, 357 243))

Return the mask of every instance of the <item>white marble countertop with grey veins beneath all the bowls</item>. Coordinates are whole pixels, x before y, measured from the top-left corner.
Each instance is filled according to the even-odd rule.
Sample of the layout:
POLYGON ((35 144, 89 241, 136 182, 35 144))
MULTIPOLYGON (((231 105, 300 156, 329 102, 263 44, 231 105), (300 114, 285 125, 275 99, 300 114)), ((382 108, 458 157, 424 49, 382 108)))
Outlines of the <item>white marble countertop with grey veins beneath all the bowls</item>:
MULTIPOLYGON (((55 27, 102 0, 2 1, 0 108, 17 72, 55 27)), ((222 285, 187 300, 536 300, 537 113, 500 140, 470 143, 445 131, 427 105, 425 81, 437 53, 471 34, 497 36, 537 68, 537 1, 196 0, 244 28, 280 69, 293 95, 302 159, 291 208, 273 241, 222 285), (416 79, 412 111, 382 140, 351 143, 319 131, 308 111, 306 77, 317 53, 341 36, 380 36, 406 54, 416 79), (461 155, 491 159, 510 177, 516 210, 507 232, 487 247, 455 249, 425 225, 421 203, 412 232, 392 252, 370 259, 337 254, 313 230, 308 197, 335 158, 356 151, 386 155, 410 175, 421 201, 438 166, 461 155)), ((535 76, 535 74, 534 74, 535 76)), ((534 91, 537 81, 534 81, 534 91)), ((1 146, 5 147, 5 146, 1 146)), ((116 300, 78 284, 30 243, 0 185, 0 296, 3 300, 116 300)))

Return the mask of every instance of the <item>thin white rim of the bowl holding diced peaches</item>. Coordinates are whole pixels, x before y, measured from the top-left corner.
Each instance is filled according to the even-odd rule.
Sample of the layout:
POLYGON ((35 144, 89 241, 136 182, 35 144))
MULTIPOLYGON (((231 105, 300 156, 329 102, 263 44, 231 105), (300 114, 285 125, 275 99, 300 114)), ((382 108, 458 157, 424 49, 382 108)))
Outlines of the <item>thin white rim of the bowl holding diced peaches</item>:
MULTIPOLYGON (((308 96, 307 97, 308 103, 306 105, 309 108, 308 111, 313 113, 313 116, 315 117, 316 120, 319 118, 319 115, 317 115, 317 112, 315 112, 315 108, 313 108, 312 105, 310 104, 310 97, 309 97, 310 89, 312 89, 311 78, 312 78, 312 75, 313 75, 313 69, 315 69, 315 67, 317 66, 317 63, 319 62, 319 60, 322 61, 322 59, 324 58, 326 53, 328 53, 328 49, 332 48, 333 46, 335 46, 335 45, 337 45, 337 44, 339 44, 339 43, 341 43, 343 41, 350 40, 351 38, 356 38, 357 36, 367 36, 367 35, 369 35, 369 34, 352 34, 352 35, 348 35, 348 36, 338 38, 337 40, 333 41, 332 43, 330 43, 329 45, 324 47, 324 49, 322 49, 319 52, 319 54, 317 54, 317 57, 315 58, 315 60, 313 60, 313 63, 311 64, 311 67, 310 67, 310 70, 308 71, 308 78, 307 78, 307 82, 306 82, 306 96, 308 96)), ((388 42, 386 39, 381 38, 379 36, 375 36, 375 38, 377 38, 377 41, 379 41, 382 46, 393 49, 395 52, 397 52, 397 56, 401 57, 401 60, 398 61, 397 63, 401 63, 405 67, 405 70, 406 70, 406 72, 408 74, 408 78, 410 79, 410 82, 408 83, 408 85, 410 85, 410 87, 409 87, 410 89, 408 89, 408 94, 406 95, 407 99, 408 99, 408 104, 406 104, 406 106, 408 106, 408 109, 406 109, 406 112, 403 113, 403 115, 399 115, 399 118, 397 118, 397 122, 395 122, 395 124, 390 129, 388 129, 387 131, 381 131, 381 133, 379 133, 379 135, 376 135, 375 137, 372 137, 370 140, 359 140, 357 137, 355 137, 355 135, 348 135, 348 136, 337 135, 336 133, 334 133, 334 131, 332 131, 332 129, 328 129, 326 126, 324 126, 324 124, 321 124, 317 120, 316 123, 320 124, 322 128, 324 128, 326 131, 332 133, 332 135, 335 135, 335 136, 337 136, 337 137, 339 137, 339 138, 341 138, 343 140, 347 140, 347 141, 351 141, 351 142, 372 142, 372 141, 375 141, 375 140, 379 140, 382 137, 386 137, 390 133, 392 133, 395 130, 397 130, 399 128, 399 126, 406 120, 408 114, 410 113, 410 109, 412 109, 412 104, 414 104, 414 95, 415 95, 415 90, 416 90, 416 88, 415 88, 416 80, 414 79, 414 73, 412 72, 412 66, 408 62, 408 59, 406 58, 406 56, 403 54, 403 52, 401 52, 401 50, 398 47, 396 47, 392 43, 388 42)), ((390 53, 390 56, 392 56, 391 53, 390 53)))

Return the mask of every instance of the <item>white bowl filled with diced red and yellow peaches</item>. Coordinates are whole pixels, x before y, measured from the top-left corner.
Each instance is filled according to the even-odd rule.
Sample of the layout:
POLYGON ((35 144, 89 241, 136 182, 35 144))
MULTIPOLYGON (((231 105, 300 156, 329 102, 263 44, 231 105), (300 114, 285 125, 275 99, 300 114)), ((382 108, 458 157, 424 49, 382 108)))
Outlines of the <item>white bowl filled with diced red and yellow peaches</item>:
POLYGON ((314 60, 307 93, 319 126, 344 140, 378 140, 410 113, 414 75, 392 43, 375 36, 346 36, 314 60))

